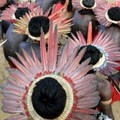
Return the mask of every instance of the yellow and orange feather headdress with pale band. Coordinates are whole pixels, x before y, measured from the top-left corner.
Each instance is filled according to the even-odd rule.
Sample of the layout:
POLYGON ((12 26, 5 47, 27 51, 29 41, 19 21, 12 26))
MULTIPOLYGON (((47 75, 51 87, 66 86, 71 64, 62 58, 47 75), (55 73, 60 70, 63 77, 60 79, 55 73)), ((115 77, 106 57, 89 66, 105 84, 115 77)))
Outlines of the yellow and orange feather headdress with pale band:
MULTIPOLYGON (((47 19, 49 19, 49 21, 53 22, 53 26, 57 25, 59 36, 61 35, 64 36, 65 34, 71 31, 70 27, 72 25, 71 24, 72 19, 68 19, 68 16, 65 14, 68 3, 69 3, 69 0, 66 0, 65 5, 56 12, 54 11, 54 7, 53 7, 51 14, 50 14, 50 10, 48 10, 45 14, 43 14, 42 9, 40 7, 37 7, 35 10, 30 12, 29 14, 26 14, 24 17, 16 20, 14 32, 17 32, 19 34, 26 34, 31 39, 39 41, 40 35, 36 37, 30 34, 29 23, 31 19, 37 16, 44 16, 47 19)), ((40 26, 36 25, 36 27, 39 28, 40 26)), ((45 38, 48 38, 48 33, 49 33, 49 30, 46 33, 45 38)))

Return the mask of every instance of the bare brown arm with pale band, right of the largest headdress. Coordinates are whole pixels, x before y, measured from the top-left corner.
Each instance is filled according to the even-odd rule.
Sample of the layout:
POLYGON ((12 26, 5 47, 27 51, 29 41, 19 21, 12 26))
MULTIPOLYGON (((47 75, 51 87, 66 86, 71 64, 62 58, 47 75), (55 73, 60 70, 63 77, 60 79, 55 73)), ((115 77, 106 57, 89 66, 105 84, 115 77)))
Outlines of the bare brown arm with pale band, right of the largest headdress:
MULTIPOLYGON (((100 80, 100 77, 97 79, 97 81, 98 81, 98 91, 100 92, 101 101, 110 100, 112 98, 112 88, 110 82, 105 79, 100 80)), ((101 101, 99 104, 101 111, 109 118, 112 118, 112 120, 114 120, 111 103, 103 104, 101 101)))

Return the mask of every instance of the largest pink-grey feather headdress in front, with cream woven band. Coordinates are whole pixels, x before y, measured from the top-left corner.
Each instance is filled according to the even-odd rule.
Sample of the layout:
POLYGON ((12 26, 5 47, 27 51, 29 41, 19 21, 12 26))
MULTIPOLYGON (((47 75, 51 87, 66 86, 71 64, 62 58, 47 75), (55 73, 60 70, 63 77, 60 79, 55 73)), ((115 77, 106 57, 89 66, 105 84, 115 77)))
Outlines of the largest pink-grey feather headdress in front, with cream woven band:
MULTIPOLYGON (((52 25, 51 25, 52 26, 52 25)), ((37 59, 35 52, 30 57, 23 50, 24 57, 17 54, 19 61, 10 58, 16 65, 17 69, 9 68, 10 76, 7 83, 2 86, 4 112, 17 114, 8 120, 43 120, 33 107, 31 95, 34 91, 35 84, 43 78, 51 77, 61 84, 65 90, 67 98, 64 111, 54 120, 65 119, 84 119, 93 120, 97 111, 94 108, 99 103, 97 84, 93 74, 86 73, 91 69, 88 65, 89 59, 79 64, 85 49, 78 56, 77 50, 69 55, 67 54, 68 44, 64 47, 62 54, 58 57, 58 33, 57 29, 50 28, 48 38, 48 48, 45 46, 45 36, 42 32, 40 40, 41 60, 37 59)))

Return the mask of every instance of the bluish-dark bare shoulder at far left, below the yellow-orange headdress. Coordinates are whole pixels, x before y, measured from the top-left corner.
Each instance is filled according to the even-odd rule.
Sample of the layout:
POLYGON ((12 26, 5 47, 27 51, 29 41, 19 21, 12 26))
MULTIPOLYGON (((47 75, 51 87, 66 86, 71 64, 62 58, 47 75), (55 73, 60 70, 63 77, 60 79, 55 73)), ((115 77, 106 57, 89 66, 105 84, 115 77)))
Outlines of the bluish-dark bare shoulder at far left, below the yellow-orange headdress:
POLYGON ((11 24, 6 33, 7 42, 3 45, 4 56, 11 63, 9 56, 17 58, 15 52, 18 52, 21 42, 27 39, 26 35, 20 35, 13 32, 14 25, 11 24))

